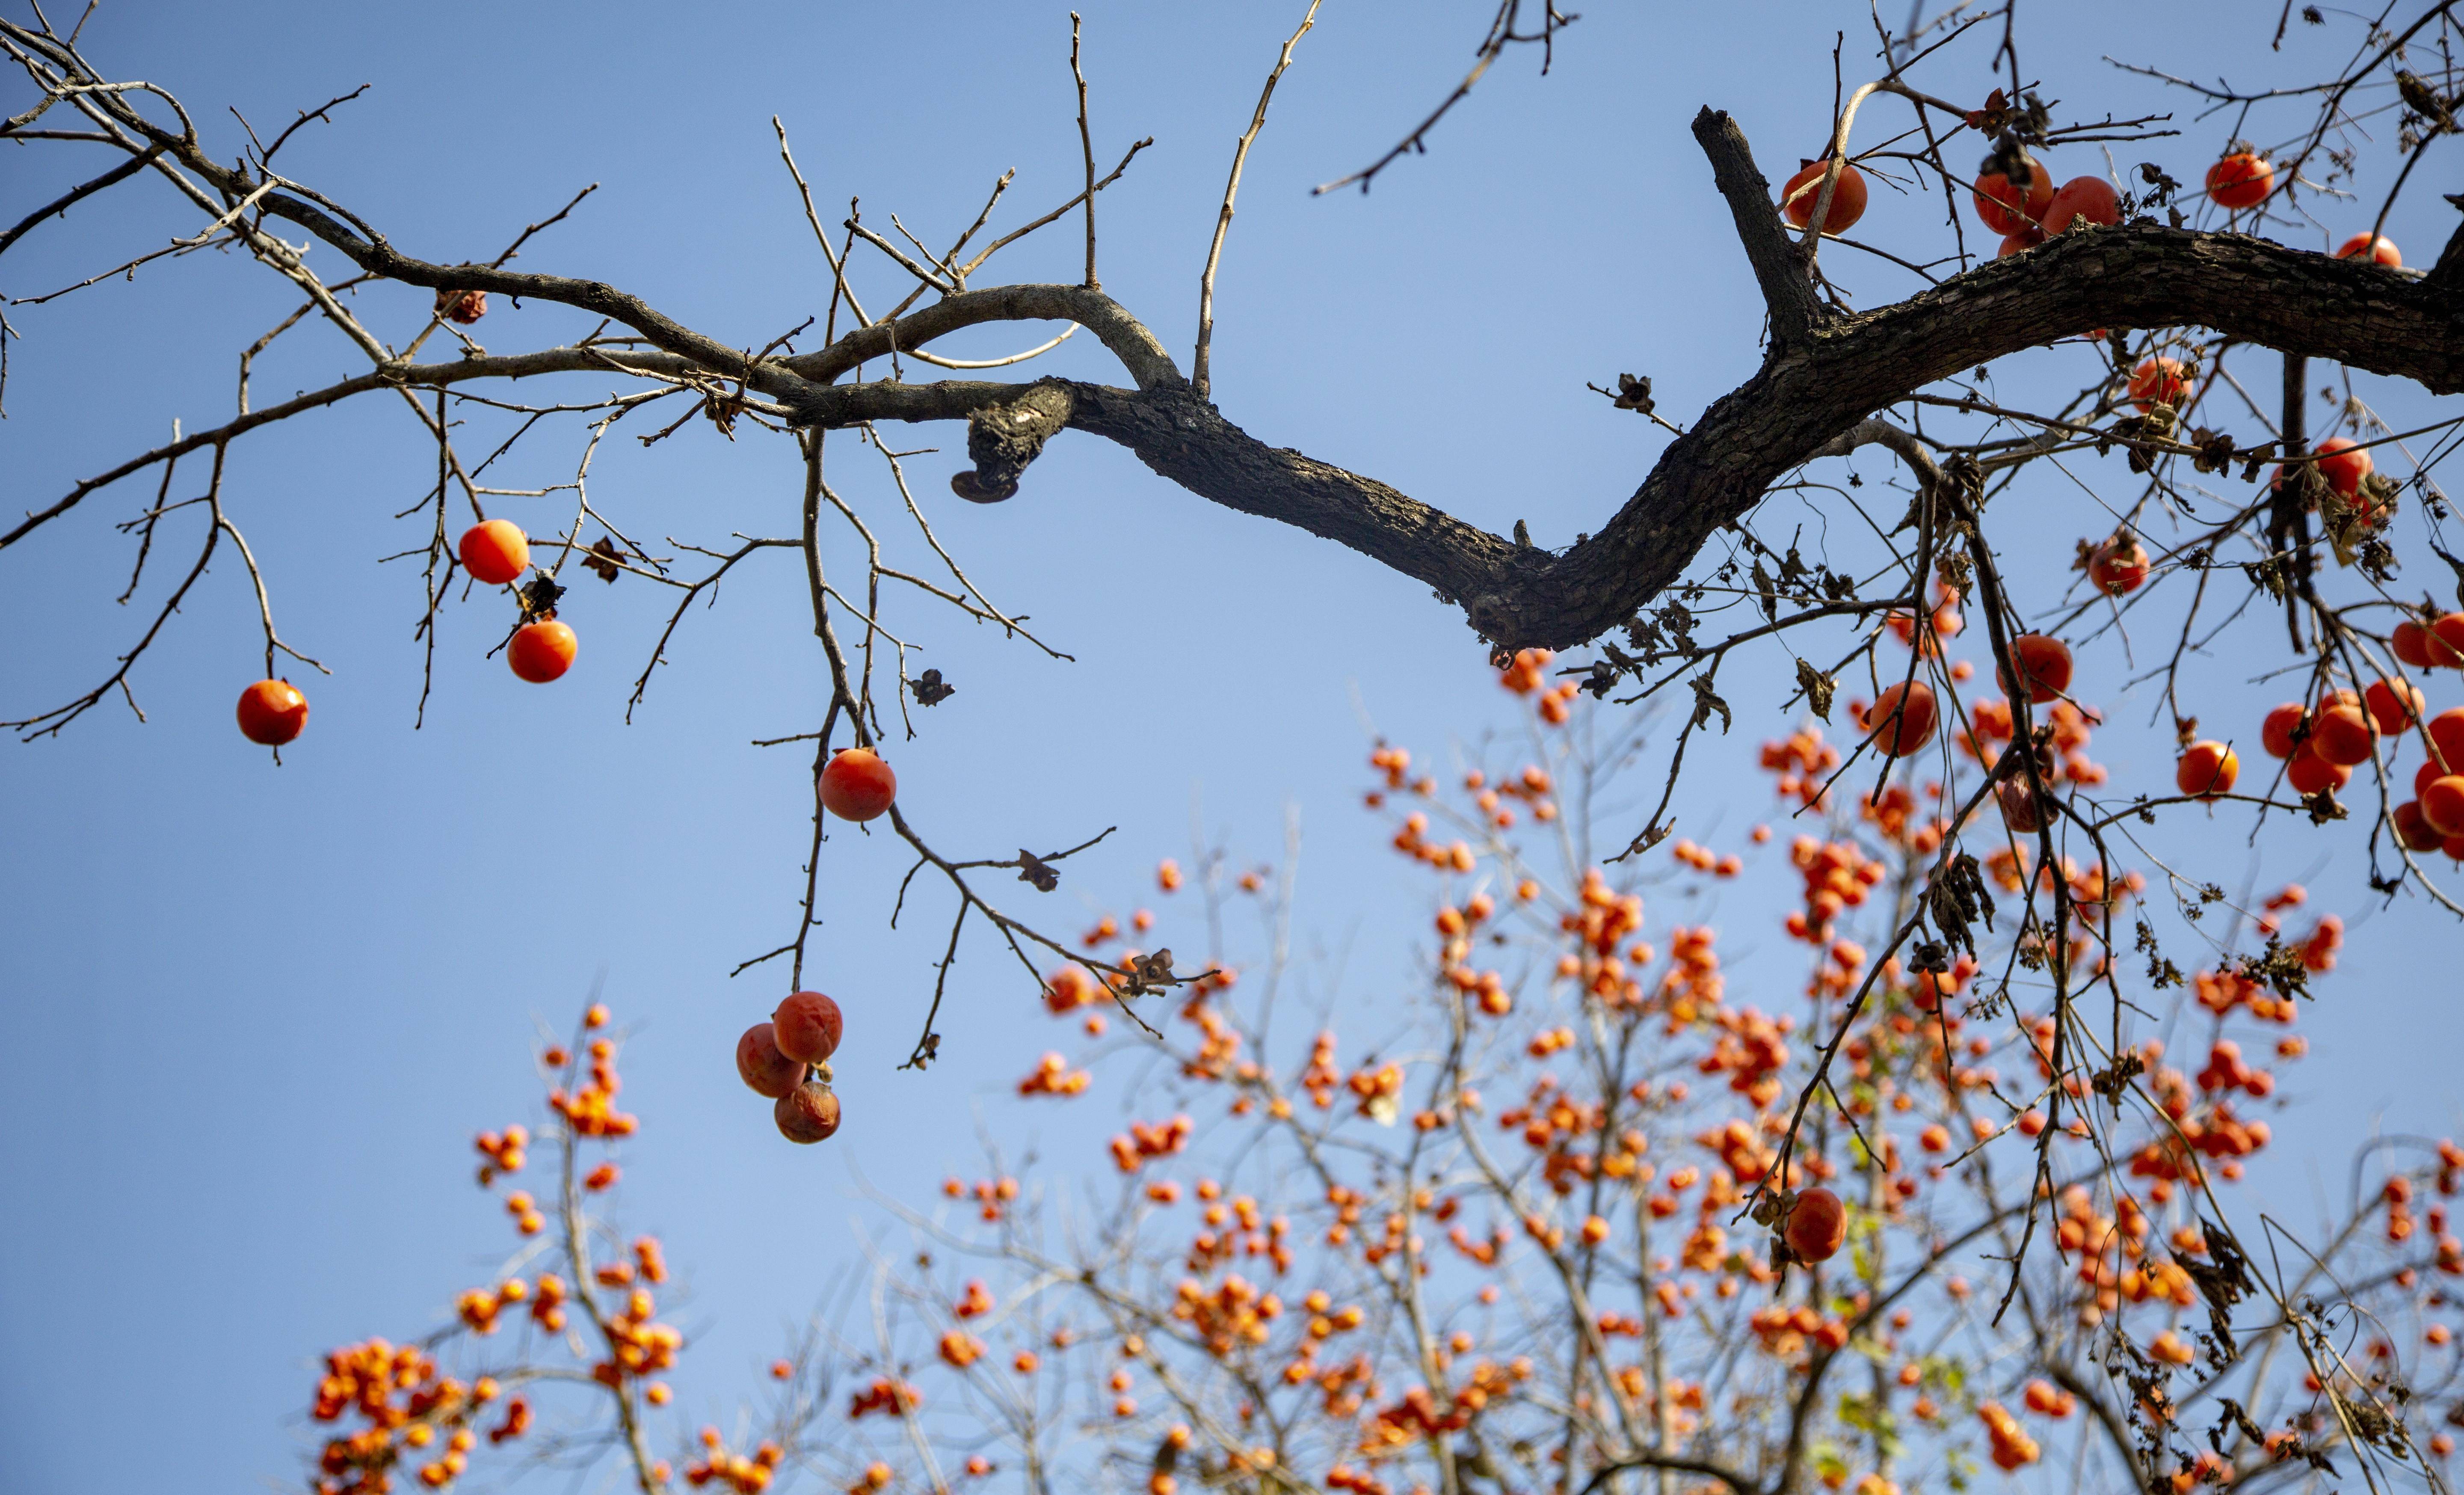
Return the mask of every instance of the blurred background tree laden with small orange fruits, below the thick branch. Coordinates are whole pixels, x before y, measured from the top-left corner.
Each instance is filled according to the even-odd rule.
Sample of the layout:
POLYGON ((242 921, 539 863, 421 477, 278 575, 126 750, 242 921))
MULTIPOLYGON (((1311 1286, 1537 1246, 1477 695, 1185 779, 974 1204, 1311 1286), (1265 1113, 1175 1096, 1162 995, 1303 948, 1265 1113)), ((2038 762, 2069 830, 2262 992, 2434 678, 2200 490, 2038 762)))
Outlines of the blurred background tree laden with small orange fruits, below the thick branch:
MULTIPOLYGON (((478 1138, 505 1266, 444 1332, 328 1357, 315 1488, 609 1456, 646 1495, 1892 1495, 1986 1463, 2168 1495, 2444 1488, 2464 1150, 2388 1138, 2306 1229, 2235 1187, 2274 1145, 2333 914, 2294 887, 2218 906, 2210 963, 2112 1034, 2065 1027, 2023 914, 2055 877, 2018 850, 1959 887, 1974 946, 1947 970, 1882 953, 1937 897, 1944 798, 1826 793, 1818 724, 1762 749, 1796 828, 1592 862, 1567 805, 1636 741, 1545 663, 1506 672, 1528 746, 1446 783, 1402 746, 1370 759, 1434 904, 1417 968, 1375 983, 1407 997, 1311 1012, 1274 938, 1289 867, 1161 862, 1156 909, 1099 919, 1089 953, 1198 946, 1239 904, 1266 943, 1207 948, 1205 980, 1148 1000, 1161 1039, 1116 1027, 1121 978, 1055 968, 1064 1037, 988 1133, 1096 1098, 1131 1123, 880 1195, 870 1273, 729 1429, 673 1411, 665 1261, 609 1219, 636 1121, 594 1007, 540 1054, 537 1133, 478 1138), (1796 990, 1730 988, 1700 904, 1745 879, 1791 904, 1796 990)), ((2053 719, 2092 766, 2082 717, 2053 719)), ((2094 931, 2141 879, 2057 882, 2055 958, 2122 978, 2094 931)))

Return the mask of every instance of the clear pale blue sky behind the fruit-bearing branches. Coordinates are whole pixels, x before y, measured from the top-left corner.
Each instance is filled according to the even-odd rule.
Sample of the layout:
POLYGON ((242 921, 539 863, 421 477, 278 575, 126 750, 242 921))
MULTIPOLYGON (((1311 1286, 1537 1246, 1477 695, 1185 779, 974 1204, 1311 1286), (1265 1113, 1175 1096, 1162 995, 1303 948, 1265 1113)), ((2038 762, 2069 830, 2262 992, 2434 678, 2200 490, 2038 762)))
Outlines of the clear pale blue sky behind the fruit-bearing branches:
MULTIPOLYGON (((22 0, 5 2, 22 15, 22 0)), ((1104 283, 1188 362, 1230 145, 1301 5, 1082 10, 1096 155, 1109 165, 1156 135, 1101 199, 1104 283)), ((2331 66, 2264 52, 2274 5, 2232 7, 2247 34, 2220 25, 2220 10, 2045 7, 2023 34, 2025 59, 2065 116, 2154 96, 2124 94, 2102 52, 2237 81, 2331 66)), ((1392 167, 1368 199, 1311 199, 1313 182, 1370 160, 1451 86, 1486 12, 1488 0, 1326 5, 1249 165, 1217 298, 1217 399, 1269 443, 1493 530, 1523 517, 1542 544, 1565 544, 1631 493, 1663 443, 1587 379, 1646 372, 1661 409, 1688 421, 1757 360, 1759 303, 1688 118, 1703 103, 1730 108, 1777 177, 1816 150, 1828 121, 1833 30, 1850 34, 1850 86, 1873 47, 1863 5, 1597 5, 1567 32, 1555 76, 1538 79, 1533 54, 1510 57, 1432 155, 1392 167)), ((2299 44, 2309 37, 2296 30, 2299 44)), ((372 81, 333 126, 303 131, 288 170, 429 259, 485 259, 604 182, 520 264, 614 281, 742 345, 818 313, 828 293, 771 113, 788 123, 825 222, 862 195, 872 222, 894 209, 936 239, 1005 167, 1018 185, 1003 222, 1067 197, 1079 172, 1060 0, 690 15, 131 0, 94 17, 86 52, 108 74, 175 89, 224 155, 237 150, 224 106, 264 131, 372 81)), ((1966 96, 1988 84, 1937 86, 1966 96)), ((15 111, 25 94, 0 86, 0 106, 15 111)), ((2188 180, 2223 123, 2188 128, 2144 155, 2188 180)), ((2060 163, 2065 175, 2102 170, 2085 148, 2072 155, 2082 160, 2060 163)), ((32 150, 5 160, 0 219, 89 165, 32 150)), ((1868 222, 1885 241, 1939 232, 1885 192, 1868 222)), ((0 291, 52 291, 195 227, 163 190, 123 190, 27 239, 0 291)), ((2427 259, 2449 227, 2422 192, 2388 232, 2427 259)), ((310 261, 335 273, 328 256, 310 261)), ((1008 273, 1072 278, 1074 256, 1074 229, 1057 229, 1008 273)), ((880 298, 890 276, 870 283, 880 298)), ((1868 303, 1910 286, 1870 264, 1850 283, 1868 303)), ((288 308, 264 271, 202 256, 12 313, 25 342, 0 426, 7 505, 47 502, 160 441, 172 419, 219 419, 237 350, 288 308)), ((505 350, 567 320, 500 305, 476 332, 505 350)), ((993 330, 951 350, 1018 345, 1015 330, 993 330)), ((2003 389, 2038 377, 2075 387, 2087 357, 2011 360, 2003 389)), ((259 399, 350 362, 323 330, 301 330, 261 367, 259 399)), ((1116 377, 1087 337, 1050 367, 1116 377)), ((2385 397, 2390 411, 2427 404, 2385 397)), ((914 431, 912 446, 958 441, 914 431)), ((564 436, 540 441, 513 478, 562 480, 572 451, 564 436)), ((1424 889, 1355 805, 1363 717, 1422 751, 1503 722, 1459 613, 1350 552, 1168 488, 1092 438, 1057 441, 1025 495, 988 510, 946 500, 951 465, 946 453, 917 458, 944 534, 1077 665, 907 611, 931 643, 919 665, 958 682, 897 759, 926 835, 998 857, 1121 825, 1045 899, 1055 924, 1079 926, 1126 911, 1158 855, 1188 857, 1193 823, 1279 857, 1289 805, 1308 837, 1303 931, 1328 948, 1372 931, 1345 990, 1400 985, 1380 919, 1409 914, 1417 929, 1424 889)), ((621 724, 623 697, 665 598, 582 581, 569 613, 582 663, 552 690, 480 660, 495 613, 458 608, 414 734, 416 576, 375 562, 419 544, 392 515, 431 470, 407 411, 375 399, 234 448, 232 510, 278 618, 335 670, 308 682, 313 724, 281 771, 232 731, 232 697, 259 672, 234 564, 217 564, 140 665, 148 724, 106 707, 64 741, 0 749, 5 1488, 116 1495, 160 1485, 165 1465, 197 1488, 291 1480, 313 1357, 370 1332, 419 1332, 488 1271, 503 1234, 468 1187, 468 1135, 537 1121, 532 1020, 562 1027, 599 978, 636 1025, 626 1098, 650 1118, 626 1158, 628 1219, 692 1268, 697 1342, 683 1387, 695 1409, 747 1384, 776 1330, 855 1259, 845 1160, 894 1192, 971 1167, 978 1103, 998 1101, 1050 1042, 1032 990, 978 943, 961 963, 956 1017, 944 1017, 946 1064, 892 1069, 929 995, 941 899, 926 892, 922 919, 887 933, 907 862, 885 837, 843 832, 825 855, 816 975, 848 1010, 848 1126, 833 1148, 779 1143, 727 1064, 779 985, 759 973, 729 983, 727 970, 793 924, 808 759, 747 746, 808 729, 823 699, 793 569, 747 566, 717 611, 697 611, 633 727, 621 724)), ((1865 470, 1887 475, 1880 461, 1865 470)), ((833 473, 857 502, 894 502, 848 438, 833 441, 833 473)), ((786 532, 793 461, 784 441, 729 446, 707 429, 648 453, 618 438, 594 495, 653 542, 786 532)), ((99 495, 76 522, 0 557, 0 714, 84 690, 143 626, 138 603, 111 603, 131 554, 108 525, 145 498, 150 488, 99 495)), ((513 512, 549 527, 552 507, 513 512)), ((2050 480, 1996 517, 2020 547, 2065 562, 2075 537, 2102 532, 2050 480)), ((2048 603, 2065 574, 2048 562, 2030 584, 2048 603)), ((2215 719, 2242 719, 2250 736, 2282 692, 2245 685, 2245 672, 2220 660, 2203 690, 2215 719)), ((1777 682, 1735 692, 1745 719, 1732 751, 1703 756, 1688 800, 1700 808, 1680 832, 1735 842, 1762 818, 1764 791, 1742 764, 1781 727, 1779 695, 1777 682)), ((2144 729, 2151 702, 2114 704, 2099 756, 2117 778, 2166 776, 2168 744, 2144 729)), ((2464 1025, 2452 921, 2417 904, 2365 916, 2351 828, 2269 847, 2257 864, 2237 825, 2168 845, 2225 882, 2304 877, 2353 921, 2346 973, 2311 1022, 2321 1057, 2289 1081, 2311 1118, 2304 1150, 2277 1163, 2292 1209, 2306 1209, 2314 1177, 2341 1180, 2348 1145, 2380 1118, 2454 1123, 2464 1025)), ((1747 929, 1769 914, 1730 911, 1747 929)), ((1767 975, 1774 997, 1794 988, 1786 961, 1767 975)))

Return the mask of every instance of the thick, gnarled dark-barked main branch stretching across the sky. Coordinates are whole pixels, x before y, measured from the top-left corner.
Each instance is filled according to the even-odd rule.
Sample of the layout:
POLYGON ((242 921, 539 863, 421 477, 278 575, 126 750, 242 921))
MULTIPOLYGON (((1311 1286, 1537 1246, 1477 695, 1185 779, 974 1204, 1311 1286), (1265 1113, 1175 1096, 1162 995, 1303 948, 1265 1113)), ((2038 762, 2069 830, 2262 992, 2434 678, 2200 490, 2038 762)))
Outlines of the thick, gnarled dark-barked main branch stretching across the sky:
MULTIPOLYGON (((232 202, 261 187, 180 135, 140 128, 232 202)), ((806 426, 944 421, 1005 406, 1030 387, 833 379, 968 325, 1074 320, 1121 360, 1136 392, 1042 382, 1037 387, 1047 394, 1023 406, 1032 419, 1020 431, 995 431, 991 416, 973 421, 973 480, 986 493, 1015 483, 1042 441, 1067 421, 1119 441, 1200 498, 1299 525, 1427 581, 1459 601, 1481 635, 1510 648, 1577 645, 1624 623, 1683 574, 1720 525, 1752 510, 1774 478, 1873 411, 1959 369, 2089 328, 2205 325, 2287 355, 2415 379, 2434 394, 2464 389, 2464 286, 2452 283, 2459 264, 2454 244, 2439 271, 2410 278, 2368 261, 2336 261, 2240 234, 2139 222, 2065 234, 1897 305, 1848 315, 1814 300, 1801 251, 1781 232, 1769 182, 1754 170, 1735 121, 1705 108, 1695 135, 1772 308, 1769 357, 1668 446, 1607 525, 1555 554, 1515 547, 1385 483, 1257 441, 1190 392, 1146 325, 1084 286, 961 291, 899 323, 850 332, 821 352, 754 360, 599 281, 429 264, 399 254, 357 219, 345 224, 350 214, 335 217, 340 209, 328 212, 286 192, 266 192, 261 204, 271 217, 325 239, 362 271, 411 286, 557 300, 614 318, 663 350, 623 360, 601 350, 554 350, 520 360, 461 360, 453 367, 389 365, 372 377, 382 382, 444 384, 485 372, 655 362, 742 379, 806 426)), ((96 483, 30 517, 0 544, 74 505, 96 483)))

